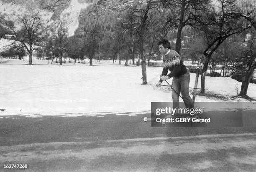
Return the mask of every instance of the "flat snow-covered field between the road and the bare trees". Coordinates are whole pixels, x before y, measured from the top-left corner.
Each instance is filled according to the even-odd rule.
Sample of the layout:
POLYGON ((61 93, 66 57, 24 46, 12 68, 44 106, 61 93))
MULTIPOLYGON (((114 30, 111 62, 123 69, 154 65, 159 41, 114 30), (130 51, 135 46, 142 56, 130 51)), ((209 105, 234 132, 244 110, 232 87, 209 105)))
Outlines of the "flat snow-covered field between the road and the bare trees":
MULTIPOLYGON (((95 66, 89 66, 88 60, 86 64, 62 66, 48 65, 48 60, 27 63, 28 60, 0 60, 0 109, 5 109, 0 116, 138 115, 149 113, 151 102, 172 102, 170 87, 155 86, 162 67, 147 67, 148 85, 141 85, 141 66, 124 67, 118 61, 95 61, 95 66)), ((194 87, 195 74, 190 73, 190 77, 189 86, 194 87)), ((206 76, 205 85, 207 93, 223 97, 236 95, 236 85, 241 88, 241 82, 230 77, 206 76)), ((256 99, 256 84, 249 84, 247 95, 256 99)), ((248 100, 196 97, 196 102, 223 101, 248 100)))

